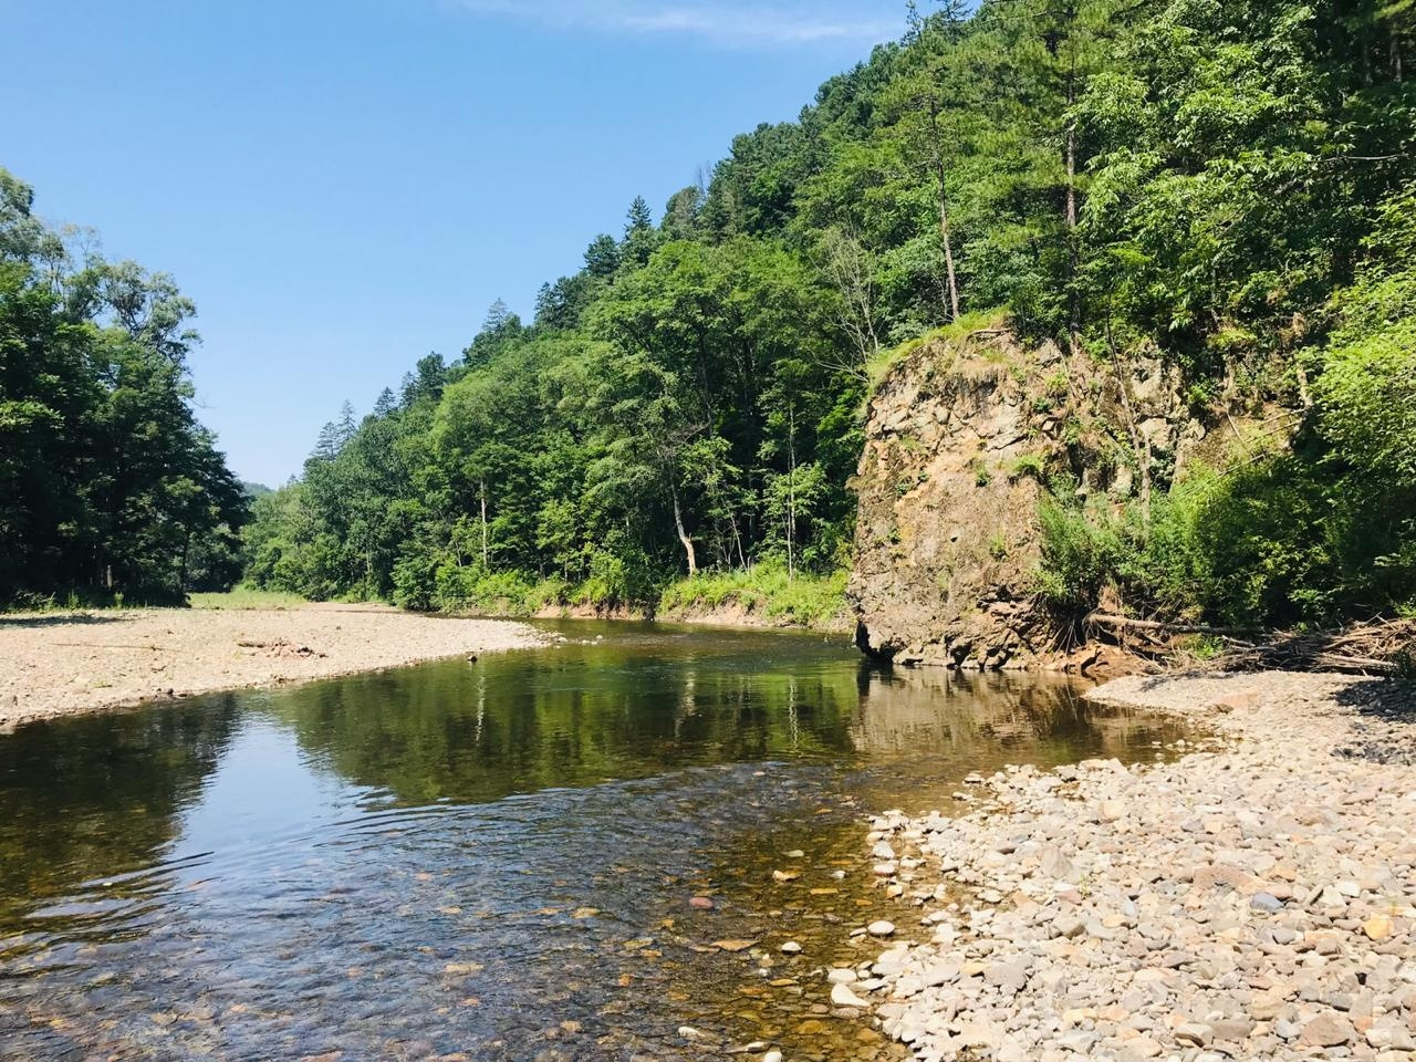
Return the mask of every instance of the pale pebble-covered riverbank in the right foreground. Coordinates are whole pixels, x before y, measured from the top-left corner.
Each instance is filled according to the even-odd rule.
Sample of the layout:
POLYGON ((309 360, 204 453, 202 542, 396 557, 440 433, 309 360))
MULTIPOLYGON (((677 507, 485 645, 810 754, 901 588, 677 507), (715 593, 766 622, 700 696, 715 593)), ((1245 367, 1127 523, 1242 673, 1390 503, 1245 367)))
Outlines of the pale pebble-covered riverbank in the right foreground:
POLYGON ((831 974, 833 1003, 922 1059, 1410 1059, 1409 690, 1262 673, 1092 698, 1214 736, 976 777, 961 817, 878 817, 877 874, 918 912, 831 974))

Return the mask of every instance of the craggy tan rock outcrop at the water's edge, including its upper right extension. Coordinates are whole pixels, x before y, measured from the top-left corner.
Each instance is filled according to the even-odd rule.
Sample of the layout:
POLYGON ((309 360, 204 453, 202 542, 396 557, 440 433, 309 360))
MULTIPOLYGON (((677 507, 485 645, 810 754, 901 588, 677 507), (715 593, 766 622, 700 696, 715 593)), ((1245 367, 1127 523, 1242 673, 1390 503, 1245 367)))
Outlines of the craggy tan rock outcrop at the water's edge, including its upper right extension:
POLYGON ((1205 438, 1172 370, 1131 370, 1123 381, 990 330, 926 343, 889 371, 855 484, 847 596, 865 653, 981 670, 1059 663, 1034 593, 1044 472, 1119 504, 1150 489, 1143 464, 1174 474, 1205 438))

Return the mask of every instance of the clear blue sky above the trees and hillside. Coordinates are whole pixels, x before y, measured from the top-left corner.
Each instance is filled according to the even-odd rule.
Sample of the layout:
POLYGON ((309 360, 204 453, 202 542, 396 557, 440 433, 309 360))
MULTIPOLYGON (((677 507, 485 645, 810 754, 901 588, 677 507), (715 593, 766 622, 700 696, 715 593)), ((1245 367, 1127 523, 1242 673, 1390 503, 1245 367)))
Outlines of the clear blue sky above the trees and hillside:
POLYGON ((905 0, 0 0, 0 166, 176 276, 198 413, 278 486, 634 195, 797 116, 905 0), (14 88, 11 91, 16 91, 14 88))

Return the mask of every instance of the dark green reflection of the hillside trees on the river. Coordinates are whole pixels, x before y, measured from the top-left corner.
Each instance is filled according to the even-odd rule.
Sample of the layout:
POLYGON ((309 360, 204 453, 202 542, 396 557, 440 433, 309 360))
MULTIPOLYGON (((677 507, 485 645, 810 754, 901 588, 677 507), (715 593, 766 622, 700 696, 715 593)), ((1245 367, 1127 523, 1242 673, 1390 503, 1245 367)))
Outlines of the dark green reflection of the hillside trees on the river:
POLYGON ((558 626, 552 651, 321 683, 270 711, 405 804, 851 750, 862 666, 820 637, 632 626, 598 643, 603 626, 558 626))

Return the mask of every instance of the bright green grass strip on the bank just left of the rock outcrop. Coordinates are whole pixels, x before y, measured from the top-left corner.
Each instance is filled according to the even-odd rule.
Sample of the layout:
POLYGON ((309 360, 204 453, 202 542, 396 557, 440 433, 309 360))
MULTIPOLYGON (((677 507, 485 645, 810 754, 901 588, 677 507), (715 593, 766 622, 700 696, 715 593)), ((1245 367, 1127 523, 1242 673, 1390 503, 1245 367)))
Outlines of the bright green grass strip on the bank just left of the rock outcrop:
POLYGON ((844 571, 831 575, 787 578, 784 568, 759 564, 746 571, 707 572, 670 583, 660 595, 658 612, 743 607, 777 623, 826 629, 840 626, 847 615, 844 571))

